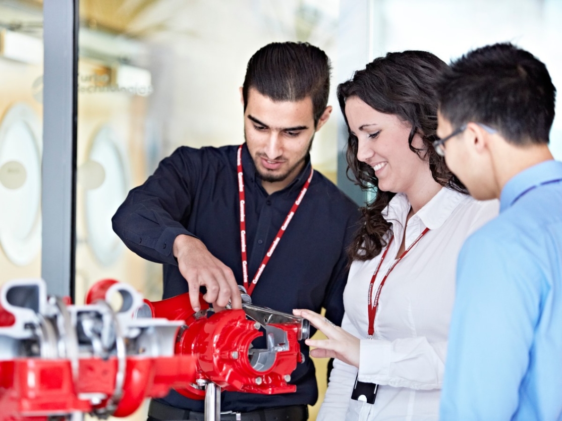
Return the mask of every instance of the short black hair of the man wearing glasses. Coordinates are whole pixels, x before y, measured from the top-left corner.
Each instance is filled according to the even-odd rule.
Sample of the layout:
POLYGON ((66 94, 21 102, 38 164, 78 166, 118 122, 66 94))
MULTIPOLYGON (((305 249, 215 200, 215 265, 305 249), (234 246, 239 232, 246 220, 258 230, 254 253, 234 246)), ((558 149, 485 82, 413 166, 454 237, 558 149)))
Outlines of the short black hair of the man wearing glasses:
POLYGON ((513 144, 549 143, 556 88, 544 63, 513 44, 487 45, 452 61, 437 93, 452 126, 474 121, 513 144))

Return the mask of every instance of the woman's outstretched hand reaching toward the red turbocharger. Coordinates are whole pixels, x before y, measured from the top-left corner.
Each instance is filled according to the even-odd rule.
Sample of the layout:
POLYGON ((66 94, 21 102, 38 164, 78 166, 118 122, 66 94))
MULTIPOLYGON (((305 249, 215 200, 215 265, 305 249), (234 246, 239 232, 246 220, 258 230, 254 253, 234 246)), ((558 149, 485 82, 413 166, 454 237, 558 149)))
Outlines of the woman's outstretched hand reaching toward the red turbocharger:
POLYGON ((359 368, 359 338, 311 310, 294 309, 293 314, 307 319, 312 326, 328 337, 327 340, 307 339, 305 341, 306 345, 316 347, 316 349, 310 350, 311 356, 337 358, 359 368))

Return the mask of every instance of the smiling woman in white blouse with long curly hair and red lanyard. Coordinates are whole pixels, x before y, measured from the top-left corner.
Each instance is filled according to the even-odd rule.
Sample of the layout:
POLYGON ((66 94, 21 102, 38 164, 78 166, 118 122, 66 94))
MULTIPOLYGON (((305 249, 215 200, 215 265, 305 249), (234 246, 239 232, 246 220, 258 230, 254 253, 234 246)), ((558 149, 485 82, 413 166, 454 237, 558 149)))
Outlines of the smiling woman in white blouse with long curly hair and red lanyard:
POLYGON ((457 255, 498 212, 470 198, 432 147, 446 66, 428 52, 388 53, 338 86, 348 165, 377 193, 350 247, 342 327, 294 310, 328 337, 306 341, 311 355, 336 358, 318 420, 438 419, 457 255))

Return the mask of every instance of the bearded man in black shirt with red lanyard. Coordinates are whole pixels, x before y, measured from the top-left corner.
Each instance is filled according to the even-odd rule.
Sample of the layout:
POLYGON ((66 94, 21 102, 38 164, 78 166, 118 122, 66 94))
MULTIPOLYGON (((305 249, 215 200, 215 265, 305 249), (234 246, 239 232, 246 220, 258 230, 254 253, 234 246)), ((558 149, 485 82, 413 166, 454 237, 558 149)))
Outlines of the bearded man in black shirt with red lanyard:
MULTIPOLYGON (((198 292, 215 307, 240 308, 237 285, 252 303, 285 313, 326 309, 343 317, 346 248, 357 206, 310 163, 316 131, 328 120, 330 65, 307 43, 273 43, 248 62, 241 88, 243 145, 178 148, 113 218, 125 244, 164 264, 164 298, 198 292)), ((318 389, 308 348, 291 374, 295 393, 223 392, 221 419, 307 419, 318 389), (275 409, 273 409, 275 408, 275 409), (238 417, 238 418, 237 418, 238 417)), ((175 391, 153 400, 149 419, 203 419, 203 401, 175 391), (170 418, 171 417, 171 418, 170 418)))

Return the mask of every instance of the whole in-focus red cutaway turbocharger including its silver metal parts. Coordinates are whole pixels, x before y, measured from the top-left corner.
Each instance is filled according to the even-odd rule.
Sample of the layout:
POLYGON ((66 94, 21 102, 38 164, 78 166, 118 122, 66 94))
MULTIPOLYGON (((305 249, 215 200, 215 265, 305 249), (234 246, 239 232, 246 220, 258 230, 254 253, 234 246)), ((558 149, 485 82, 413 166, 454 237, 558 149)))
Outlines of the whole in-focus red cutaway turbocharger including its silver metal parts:
MULTIPOLYGON (((301 317, 252 305, 243 294, 242 310, 214 313, 200 297, 202 309, 195 313, 189 294, 151 303, 142 309, 152 317, 183 320, 175 345, 176 355, 191 355, 197 361, 195 381, 187 388, 176 388, 192 399, 203 399, 198 385, 211 381, 229 391, 288 393, 291 373, 302 362, 298 341, 309 337, 309 322, 301 317), (250 318, 250 319, 248 319, 250 318), (252 346, 265 330, 266 347, 252 346)), ((142 311, 141 310, 141 311, 142 311)))

